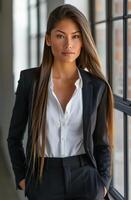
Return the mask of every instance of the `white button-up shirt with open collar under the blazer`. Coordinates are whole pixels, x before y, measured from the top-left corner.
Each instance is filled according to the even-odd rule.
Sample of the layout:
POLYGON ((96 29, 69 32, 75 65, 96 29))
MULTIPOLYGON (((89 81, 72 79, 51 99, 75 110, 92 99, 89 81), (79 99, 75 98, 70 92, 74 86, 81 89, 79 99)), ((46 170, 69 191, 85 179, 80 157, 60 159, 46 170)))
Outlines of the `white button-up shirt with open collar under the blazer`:
POLYGON ((52 72, 48 86, 45 157, 67 157, 85 153, 83 146, 82 78, 66 105, 65 112, 53 91, 52 72))

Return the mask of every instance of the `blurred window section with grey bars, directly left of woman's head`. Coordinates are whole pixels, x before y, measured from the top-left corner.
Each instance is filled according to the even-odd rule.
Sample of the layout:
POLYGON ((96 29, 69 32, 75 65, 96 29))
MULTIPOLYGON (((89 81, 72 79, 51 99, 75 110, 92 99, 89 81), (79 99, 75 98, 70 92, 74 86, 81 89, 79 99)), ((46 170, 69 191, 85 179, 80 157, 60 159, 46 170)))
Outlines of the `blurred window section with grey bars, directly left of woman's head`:
POLYGON ((28 65, 30 67, 38 67, 43 55, 44 36, 46 31, 46 0, 29 0, 28 16, 28 65))

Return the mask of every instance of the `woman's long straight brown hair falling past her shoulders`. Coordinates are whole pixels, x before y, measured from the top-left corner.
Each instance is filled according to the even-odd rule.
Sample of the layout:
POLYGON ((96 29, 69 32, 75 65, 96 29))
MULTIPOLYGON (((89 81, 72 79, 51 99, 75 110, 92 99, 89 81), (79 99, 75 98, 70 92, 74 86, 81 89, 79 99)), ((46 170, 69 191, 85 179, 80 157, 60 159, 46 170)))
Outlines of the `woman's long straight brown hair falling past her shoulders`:
MULTIPOLYGON (((53 10, 48 18, 47 35, 50 35, 55 25, 60 20, 68 18, 73 20, 79 27, 82 35, 83 46, 80 56, 76 60, 77 66, 86 68, 89 73, 94 74, 104 80, 108 85, 108 106, 107 106, 107 127, 110 144, 112 145, 113 135, 113 95, 111 88, 101 72, 101 62, 96 51, 96 47, 90 32, 89 24, 85 16, 74 6, 65 4, 53 10)), ((38 82, 37 94, 34 102, 32 114, 32 148, 31 158, 33 158, 33 170, 38 156, 38 177, 41 179, 44 168, 44 150, 46 142, 45 122, 48 98, 48 82, 53 64, 51 47, 44 44, 44 52, 41 63, 41 72, 38 82), (42 145, 40 145, 40 135, 42 135, 42 145)))

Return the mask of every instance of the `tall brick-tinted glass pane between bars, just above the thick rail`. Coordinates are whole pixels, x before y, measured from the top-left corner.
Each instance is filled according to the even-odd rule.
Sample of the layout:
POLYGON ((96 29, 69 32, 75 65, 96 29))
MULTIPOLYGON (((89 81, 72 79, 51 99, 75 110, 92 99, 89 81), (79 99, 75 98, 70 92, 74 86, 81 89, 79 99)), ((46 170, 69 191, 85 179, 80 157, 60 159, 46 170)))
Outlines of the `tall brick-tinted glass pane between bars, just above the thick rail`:
POLYGON ((123 21, 113 22, 113 92, 123 96, 123 21))

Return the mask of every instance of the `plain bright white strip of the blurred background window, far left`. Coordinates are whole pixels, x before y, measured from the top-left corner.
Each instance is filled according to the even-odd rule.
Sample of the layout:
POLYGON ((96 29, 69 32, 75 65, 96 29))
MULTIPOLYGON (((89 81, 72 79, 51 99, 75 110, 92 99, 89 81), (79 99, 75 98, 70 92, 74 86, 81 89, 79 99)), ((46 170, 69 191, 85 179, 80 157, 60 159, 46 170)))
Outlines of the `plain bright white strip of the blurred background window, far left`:
POLYGON ((13 75, 16 91, 20 71, 28 67, 27 0, 13 1, 13 75))

